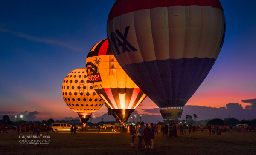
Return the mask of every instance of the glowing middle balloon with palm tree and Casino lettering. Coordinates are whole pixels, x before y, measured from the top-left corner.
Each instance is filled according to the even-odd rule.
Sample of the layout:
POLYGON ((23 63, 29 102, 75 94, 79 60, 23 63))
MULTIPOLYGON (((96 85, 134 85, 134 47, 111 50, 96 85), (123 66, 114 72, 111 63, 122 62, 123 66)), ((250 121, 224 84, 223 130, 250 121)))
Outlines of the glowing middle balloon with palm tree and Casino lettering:
POLYGON ((94 90, 105 101, 108 114, 125 123, 146 98, 116 61, 108 40, 97 43, 88 53, 86 72, 94 90))

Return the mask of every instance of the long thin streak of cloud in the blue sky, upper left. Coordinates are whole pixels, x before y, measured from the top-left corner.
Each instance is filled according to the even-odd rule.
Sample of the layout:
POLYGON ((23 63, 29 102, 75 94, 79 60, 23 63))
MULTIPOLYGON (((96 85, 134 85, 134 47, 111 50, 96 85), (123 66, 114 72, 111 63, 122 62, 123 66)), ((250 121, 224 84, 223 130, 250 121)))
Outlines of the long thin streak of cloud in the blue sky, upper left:
POLYGON ((22 37, 25 38, 27 40, 31 40, 34 42, 39 42, 39 43, 47 43, 47 44, 52 44, 52 45, 57 45, 57 46, 61 46, 61 47, 65 47, 67 49, 71 49, 73 51, 78 51, 78 52, 83 52, 84 49, 81 48, 77 48, 76 46, 72 46, 69 45, 68 43, 63 43, 57 40, 51 40, 51 39, 46 39, 46 38, 40 38, 40 37, 35 37, 32 35, 27 35, 27 34, 23 34, 23 33, 19 33, 19 32, 15 32, 9 29, 4 29, 0 26, 0 32, 9 32, 17 37, 22 37))

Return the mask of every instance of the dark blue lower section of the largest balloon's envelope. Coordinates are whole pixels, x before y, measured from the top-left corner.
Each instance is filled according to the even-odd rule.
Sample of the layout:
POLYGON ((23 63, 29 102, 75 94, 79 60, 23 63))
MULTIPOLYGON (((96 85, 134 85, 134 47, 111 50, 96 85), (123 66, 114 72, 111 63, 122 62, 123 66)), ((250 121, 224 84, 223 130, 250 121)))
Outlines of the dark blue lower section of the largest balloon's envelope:
POLYGON ((214 58, 181 58, 132 63, 123 69, 157 106, 184 106, 215 63, 214 58))

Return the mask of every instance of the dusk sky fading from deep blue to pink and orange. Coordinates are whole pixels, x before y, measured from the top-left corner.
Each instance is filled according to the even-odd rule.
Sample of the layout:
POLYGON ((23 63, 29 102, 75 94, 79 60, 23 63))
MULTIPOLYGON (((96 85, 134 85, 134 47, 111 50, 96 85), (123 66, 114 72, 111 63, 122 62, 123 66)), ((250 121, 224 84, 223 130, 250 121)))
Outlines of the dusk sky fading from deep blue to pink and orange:
MULTIPOLYGON (((9 115, 14 120, 26 111, 35 120, 78 117, 64 103, 62 82, 70 71, 84 68, 90 49, 107 38, 107 18, 114 2, 0 1, 0 119, 9 115)), ((189 108, 198 106, 219 109, 238 103, 244 110, 246 106, 256 109, 252 108, 256 106, 256 1, 220 2, 226 18, 224 44, 207 78, 186 103, 183 119, 193 114, 189 108)), ((160 115, 156 108, 147 98, 136 112, 160 115)), ((209 118, 201 110, 196 112, 198 118, 209 118)), ((105 113, 102 106, 94 115, 105 113)), ((256 118, 254 112, 250 114, 241 118, 256 118)), ((212 118, 218 118, 218 113, 212 118)))

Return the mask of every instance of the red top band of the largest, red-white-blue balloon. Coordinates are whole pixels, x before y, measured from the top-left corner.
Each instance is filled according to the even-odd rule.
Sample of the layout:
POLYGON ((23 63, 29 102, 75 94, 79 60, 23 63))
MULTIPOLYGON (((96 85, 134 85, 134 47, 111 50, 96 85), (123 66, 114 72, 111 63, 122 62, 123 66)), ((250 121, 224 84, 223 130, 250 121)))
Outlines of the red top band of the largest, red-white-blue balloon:
POLYGON ((113 20, 114 17, 118 17, 122 14, 142 9, 192 5, 212 6, 213 8, 219 8, 223 10, 219 0, 117 0, 108 15, 108 21, 113 20))

